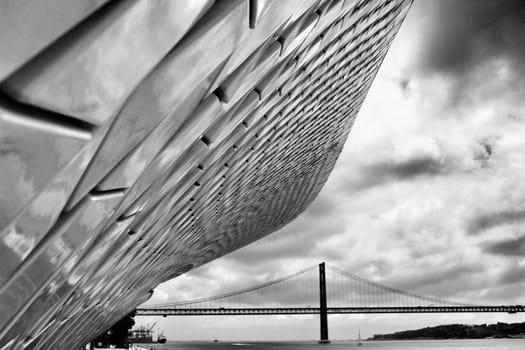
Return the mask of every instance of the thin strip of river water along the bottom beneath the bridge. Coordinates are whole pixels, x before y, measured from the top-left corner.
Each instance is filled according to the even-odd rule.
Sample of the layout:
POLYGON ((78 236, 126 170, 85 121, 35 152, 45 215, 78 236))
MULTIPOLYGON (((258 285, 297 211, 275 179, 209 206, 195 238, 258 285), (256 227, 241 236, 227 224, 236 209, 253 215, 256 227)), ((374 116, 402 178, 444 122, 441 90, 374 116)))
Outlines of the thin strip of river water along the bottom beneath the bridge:
POLYGON ((525 339, 363 341, 361 347, 355 341, 334 341, 328 345, 316 342, 169 341, 166 344, 143 344, 141 347, 147 350, 523 350, 525 339))

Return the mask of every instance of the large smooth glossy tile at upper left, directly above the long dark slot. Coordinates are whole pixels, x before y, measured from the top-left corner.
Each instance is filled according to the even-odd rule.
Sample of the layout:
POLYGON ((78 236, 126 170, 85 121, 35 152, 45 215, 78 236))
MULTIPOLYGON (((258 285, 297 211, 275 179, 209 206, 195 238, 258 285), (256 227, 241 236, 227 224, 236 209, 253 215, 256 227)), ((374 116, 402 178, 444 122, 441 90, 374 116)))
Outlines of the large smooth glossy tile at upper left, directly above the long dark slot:
POLYGON ((3 88, 25 103, 105 123, 209 6, 209 0, 114 2, 3 88))

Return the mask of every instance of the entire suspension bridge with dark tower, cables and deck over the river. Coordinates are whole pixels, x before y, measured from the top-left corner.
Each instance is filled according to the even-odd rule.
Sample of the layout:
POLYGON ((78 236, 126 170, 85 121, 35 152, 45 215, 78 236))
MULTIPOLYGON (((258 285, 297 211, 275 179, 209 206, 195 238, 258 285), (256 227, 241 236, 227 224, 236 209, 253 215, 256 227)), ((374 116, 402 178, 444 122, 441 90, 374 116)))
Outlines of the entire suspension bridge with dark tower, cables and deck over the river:
POLYGON ((518 313, 525 312, 525 307, 465 304, 421 296, 320 263, 319 266, 230 293, 143 306, 137 309, 136 315, 319 314, 321 342, 328 342, 328 314, 458 312, 518 313))

